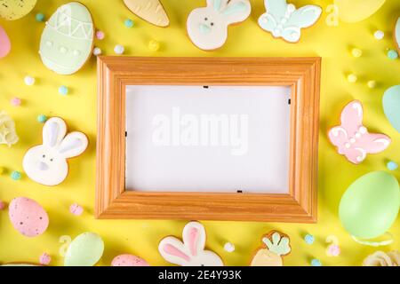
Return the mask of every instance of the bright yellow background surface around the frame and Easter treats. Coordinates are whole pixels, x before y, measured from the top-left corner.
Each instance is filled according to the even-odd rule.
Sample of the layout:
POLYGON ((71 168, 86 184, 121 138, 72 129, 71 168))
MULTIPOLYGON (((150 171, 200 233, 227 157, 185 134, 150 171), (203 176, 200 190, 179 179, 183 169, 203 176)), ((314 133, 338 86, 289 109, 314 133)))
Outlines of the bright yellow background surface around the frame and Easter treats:
MULTIPOLYGON (((359 265, 365 256, 376 248, 368 248, 352 241, 340 225, 338 205, 345 192, 357 177, 372 170, 386 170, 388 159, 400 162, 400 134, 394 130, 383 114, 381 98, 388 87, 400 83, 400 61, 386 56, 388 48, 394 48, 392 30, 400 15, 400 2, 387 0, 383 8, 368 20, 356 24, 340 22, 330 27, 325 19, 325 9, 331 1, 292 0, 293 4, 319 4, 324 8, 316 26, 303 30, 300 43, 284 43, 274 39, 257 25, 257 19, 265 12, 262 0, 252 0, 252 15, 243 24, 229 28, 228 43, 219 51, 199 51, 186 35, 185 22, 188 13, 203 6, 204 0, 164 0, 169 14, 169 28, 156 28, 129 12, 122 0, 83 0, 95 25, 106 33, 103 41, 96 40, 104 54, 113 55, 114 46, 125 46, 125 55, 135 56, 320 56, 323 58, 321 88, 321 131, 319 150, 318 223, 316 225, 274 224, 251 222, 204 222, 207 231, 206 246, 216 251, 225 264, 246 265, 260 246, 260 238, 270 230, 287 233, 292 241, 292 254, 284 258, 287 265, 309 265, 310 259, 318 258, 324 265, 359 265), (124 20, 134 20, 134 28, 126 28, 124 20), (386 32, 384 40, 377 41, 373 32, 386 32), (148 41, 161 43, 160 51, 149 51, 148 41), (364 51, 361 58, 352 57, 352 47, 364 51), (346 75, 354 73, 357 83, 348 83, 346 75), (368 80, 379 85, 369 89, 368 80), (360 99, 364 105, 364 123, 370 130, 388 134, 393 143, 382 154, 369 155, 365 162, 356 166, 337 154, 326 138, 327 130, 339 122, 342 107, 352 99, 360 99), (305 233, 316 237, 313 245, 303 241, 305 233), (325 238, 334 234, 340 239, 341 255, 325 255, 325 238), (228 253, 223 249, 226 241, 235 244, 236 250, 228 253)), ((95 140, 96 140, 96 60, 94 57, 76 75, 62 76, 46 69, 38 55, 38 46, 44 23, 36 22, 37 12, 46 19, 52 15, 62 0, 38 0, 36 8, 21 20, 0 20, 12 40, 12 52, 0 59, 0 109, 5 110, 17 124, 20 142, 11 148, 0 146, 0 166, 7 173, 0 176, 0 200, 9 202, 14 197, 26 196, 38 201, 48 211, 51 223, 46 233, 28 239, 17 233, 8 219, 7 210, 0 211, 0 263, 38 262, 47 252, 52 264, 63 264, 59 254, 60 236, 75 238, 79 233, 99 233, 105 241, 101 265, 109 265, 114 256, 123 253, 145 258, 150 264, 167 264, 157 251, 160 239, 169 234, 180 236, 186 222, 175 221, 102 221, 93 218, 95 140), (24 84, 24 76, 36 77, 34 86, 24 84), (58 93, 60 85, 69 88, 68 96, 58 93), (22 106, 11 106, 10 99, 23 99, 22 106), (70 129, 82 130, 91 141, 84 155, 69 162, 67 180, 56 187, 37 185, 25 175, 20 181, 9 176, 12 170, 22 171, 22 157, 30 146, 42 141, 43 124, 36 121, 38 114, 63 117, 70 129), (70 204, 77 202, 85 211, 82 217, 69 213, 70 204)), ((394 172, 400 177, 399 170, 394 172)), ((398 249, 400 235, 399 218, 390 232, 395 242, 383 248, 398 249)))

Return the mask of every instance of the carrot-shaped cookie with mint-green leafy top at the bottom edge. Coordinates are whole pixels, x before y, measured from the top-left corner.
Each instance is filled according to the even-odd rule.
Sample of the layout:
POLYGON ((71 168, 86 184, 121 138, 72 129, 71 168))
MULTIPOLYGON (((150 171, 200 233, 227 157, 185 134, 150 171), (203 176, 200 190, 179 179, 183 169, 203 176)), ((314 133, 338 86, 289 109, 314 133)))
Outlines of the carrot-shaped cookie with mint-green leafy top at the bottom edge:
POLYGON ((264 246, 252 258, 251 266, 283 266, 283 256, 292 250, 289 237, 284 233, 273 231, 265 235, 262 242, 264 246))

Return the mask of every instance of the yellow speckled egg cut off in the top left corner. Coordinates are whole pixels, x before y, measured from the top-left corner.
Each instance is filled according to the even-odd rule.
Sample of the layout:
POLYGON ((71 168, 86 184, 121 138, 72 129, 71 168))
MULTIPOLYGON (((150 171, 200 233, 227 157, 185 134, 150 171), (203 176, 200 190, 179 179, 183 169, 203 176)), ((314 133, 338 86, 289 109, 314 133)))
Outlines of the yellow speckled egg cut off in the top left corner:
POLYGON ((31 12, 36 0, 0 0, 0 18, 18 20, 31 12))

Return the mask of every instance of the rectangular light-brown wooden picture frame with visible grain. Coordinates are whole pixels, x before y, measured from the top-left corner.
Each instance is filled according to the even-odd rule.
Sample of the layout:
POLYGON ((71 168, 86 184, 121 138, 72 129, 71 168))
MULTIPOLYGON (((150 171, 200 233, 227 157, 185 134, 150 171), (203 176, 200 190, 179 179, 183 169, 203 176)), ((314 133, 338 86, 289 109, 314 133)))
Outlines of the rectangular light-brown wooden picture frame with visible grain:
POLYGON ((315 223, 320 58, 99 57, 95 216, 315 223), (289 194, 125 191, 128 85, 291 86, 289 194))

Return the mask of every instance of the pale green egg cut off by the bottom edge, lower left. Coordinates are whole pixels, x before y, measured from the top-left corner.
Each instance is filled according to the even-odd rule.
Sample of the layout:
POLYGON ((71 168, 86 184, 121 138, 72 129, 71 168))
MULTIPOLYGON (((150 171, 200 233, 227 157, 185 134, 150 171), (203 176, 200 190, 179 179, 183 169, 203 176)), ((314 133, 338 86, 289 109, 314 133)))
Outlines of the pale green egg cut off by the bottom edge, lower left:
POLYGON ((82 233, 71 241, 64 266, 93 266, 103 255, 104 242, 97 233, 82 233))

